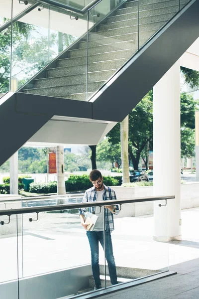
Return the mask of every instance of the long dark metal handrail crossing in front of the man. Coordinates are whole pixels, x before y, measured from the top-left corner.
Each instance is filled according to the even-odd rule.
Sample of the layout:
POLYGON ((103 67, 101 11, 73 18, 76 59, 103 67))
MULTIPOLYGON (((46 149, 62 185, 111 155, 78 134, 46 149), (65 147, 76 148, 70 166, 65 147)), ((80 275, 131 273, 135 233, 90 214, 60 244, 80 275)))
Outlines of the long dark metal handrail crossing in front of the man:
POLYGON ((157 200, 166 200, 166 202, 167 202, 168 199, 174 199, 174 198, 175 198, 174 195, 172 195, 172 196, 150 196, 150 197, 137 197, 134 199, 92 201, 92 202, 87 202, 87 203, 73 203, 73 204, 60 204, 60 205, 53 205, 53 206, 40 206, 40 207, 31 207, 31 208, 9 209, 9 210, 0 210, 0 216, 60 211, 60 210, 78 209, 78 208, 83 208, 83 207, 89 208, 89 207, 116 205, 116 204, 124 204, 124 203, 149 202, 149 201, 157 201, 157 200))

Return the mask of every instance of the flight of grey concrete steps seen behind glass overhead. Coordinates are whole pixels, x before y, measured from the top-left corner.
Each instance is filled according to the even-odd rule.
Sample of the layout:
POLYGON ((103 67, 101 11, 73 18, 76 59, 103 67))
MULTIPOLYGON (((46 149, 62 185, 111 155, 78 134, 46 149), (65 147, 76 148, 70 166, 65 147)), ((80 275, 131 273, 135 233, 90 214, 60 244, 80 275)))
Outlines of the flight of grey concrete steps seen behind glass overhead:
MULTIPOLYGON (((188 2, 182 0, 181 5, 188 2)), ((179 10, 178 0, 140 1, 120 5, 89 33, 87 78, 87 41, 79 39, 76 48, 65 51, 67 58, 57 59, 56 67, 46 68, 45 76, 34 78, 24 93, 87 100, 90 98, 153 34, 179 10)))

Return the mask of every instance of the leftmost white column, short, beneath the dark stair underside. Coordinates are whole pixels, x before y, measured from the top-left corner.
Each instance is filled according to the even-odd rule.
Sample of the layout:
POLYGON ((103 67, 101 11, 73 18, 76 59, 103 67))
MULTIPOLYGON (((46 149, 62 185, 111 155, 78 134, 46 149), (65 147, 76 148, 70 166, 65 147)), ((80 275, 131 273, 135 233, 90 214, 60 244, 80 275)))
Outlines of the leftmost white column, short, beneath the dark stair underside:
POLYGON ((18 194, 18 151, 9 158, 9 193, 18 194))

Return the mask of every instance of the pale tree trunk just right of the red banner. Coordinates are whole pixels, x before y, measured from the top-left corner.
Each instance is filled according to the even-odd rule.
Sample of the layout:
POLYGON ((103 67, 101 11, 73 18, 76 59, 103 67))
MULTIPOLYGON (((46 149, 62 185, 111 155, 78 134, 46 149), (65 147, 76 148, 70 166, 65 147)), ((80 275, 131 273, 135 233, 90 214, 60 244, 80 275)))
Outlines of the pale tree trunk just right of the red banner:
MULTIPOLYGON (((56 147, 56 166, 57 166, 57 195, 66 194, 66 185, 64 180, 64 147, 56 147)), ((58 199, 58 204, 63 204, 63 199, 58 199)))

